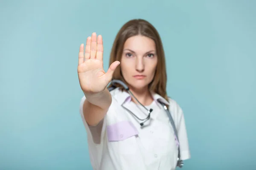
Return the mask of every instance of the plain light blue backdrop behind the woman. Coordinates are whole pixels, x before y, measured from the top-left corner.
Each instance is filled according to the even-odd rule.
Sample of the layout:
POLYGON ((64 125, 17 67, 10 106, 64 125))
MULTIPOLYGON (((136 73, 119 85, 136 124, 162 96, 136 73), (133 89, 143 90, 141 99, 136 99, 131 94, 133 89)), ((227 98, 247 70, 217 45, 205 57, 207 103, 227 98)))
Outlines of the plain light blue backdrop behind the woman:
POLYGON ((256 1, 0 1, 0 169, 91 170, 79 115, 79 45, 102 34, 104 68, 128 20, 162 37, 183 108, 183 170, 256 169, 256 1))

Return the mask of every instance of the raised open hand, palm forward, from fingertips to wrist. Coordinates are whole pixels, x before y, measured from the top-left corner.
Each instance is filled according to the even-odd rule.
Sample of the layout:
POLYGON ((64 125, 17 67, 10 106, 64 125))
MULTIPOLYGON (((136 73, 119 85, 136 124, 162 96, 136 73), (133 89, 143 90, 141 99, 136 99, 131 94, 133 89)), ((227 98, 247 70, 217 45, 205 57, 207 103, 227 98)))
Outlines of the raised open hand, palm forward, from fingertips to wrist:
POLYGON ((86 94, 97 94, 105 90, 111 82, 113 72, 120 64, 119 61, 113 62, 108 71, 103 69, 103 40, 96 33, 87 38, 84 53, 84 44, 80 45, 78 77, 82 91, 86 94))

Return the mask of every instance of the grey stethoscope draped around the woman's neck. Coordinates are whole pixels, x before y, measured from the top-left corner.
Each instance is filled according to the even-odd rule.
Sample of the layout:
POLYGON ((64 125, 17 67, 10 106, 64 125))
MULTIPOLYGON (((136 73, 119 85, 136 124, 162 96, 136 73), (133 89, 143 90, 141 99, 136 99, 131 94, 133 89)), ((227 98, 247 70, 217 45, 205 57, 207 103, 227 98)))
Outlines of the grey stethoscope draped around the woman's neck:
MULTIPOLYGON (((122 85, 122 86, 125 88, 125 90, 128 91, 128 93, 131 94, 131 96, 133 96, 134 99, 135 99, 143 108, 145 108, 145 110, 148 111, 148 116, 147 116, 145 119, 140 119, 140 118, 137 117, 134 113, 132 113, 129 109, 127 109, 127 108, 125 108, 125 107, 122 106, 122 107, 125 108, 125 110, 127 110, 129 113, 133 114, 137 119, 143 121, 142 123, 140 123, 140 125, 143 126, 144 123, 150 119, 150 113, 153 111, 153 109, 149 109, 149 110, 148 110, 143 104, 141 104, 141 103, 138 101, 138 99, 131 93, 131 91, 129 90, 129 87, 128 87, 127 85, 125 85, 125 83, 122 82, 122 81, 119 80, 119 79, 113 79, 113 80, 111 81, 111 85, 112 85, 112 86, 108 88, 108 91, 112 91, 112 90, 114 90, 114 89, 116 88, 116 86, 114 85, 115 83, 118 83, 119 85, 122 85)), ((159 103, 163 106, 163 108, 164 108, 164 110, 166 111, 166 113, 167 113, 167 115, 168 115, 168 117, 169 117, 169 119, 170 119, 170 122, 171 122, 171 124, 172 124, 172 128, 173 128, 173 130, 174 130, 175 137, 176 137, 177 142, 178 142, 177 167, 180 167, 180 168, 181 168, 181 167, 183 167, 184 164, 183 164, 183 161, 180 160, 180 144, 179 144, 179 139, 178 139, 178 135, 177 135, 178 133, 177 133, 177 129, 176 129, 176 127, 175 127, 175 123, 174 123, 174 121, 173 121, 173 119, 172 119, 172 115, 171 115, 169 109, 166 107, 166 105, 165 105, 163 102, 161 102, 160 100, 157 100, 157 102, 159 102, 159 103)))

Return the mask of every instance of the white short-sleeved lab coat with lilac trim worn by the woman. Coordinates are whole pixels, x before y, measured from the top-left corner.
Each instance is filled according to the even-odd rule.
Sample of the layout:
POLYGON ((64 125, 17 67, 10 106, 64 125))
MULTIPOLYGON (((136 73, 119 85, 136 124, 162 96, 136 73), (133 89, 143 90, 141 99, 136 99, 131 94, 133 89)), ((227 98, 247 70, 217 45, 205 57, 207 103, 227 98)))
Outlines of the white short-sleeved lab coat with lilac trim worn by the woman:
POLYGON ((177 163, 177 142, 169 117, 160 99, 169 105, 180 140, 180 158, 190 158, 189 144, 183 111, 175 100, 166 101, 162 96, 153 94, 154 101, 146 108, 152 108, 151 118, 144 127, 128 108, 140 119, 148 115, 145 108, 131 102, 127 92, 119 88, 111 91, 112 103, 105 118, 96 127, 87 125, 83 116, 81 99, 80 113, 87 131, 90 161, 94 170, 175 170, 177 163))

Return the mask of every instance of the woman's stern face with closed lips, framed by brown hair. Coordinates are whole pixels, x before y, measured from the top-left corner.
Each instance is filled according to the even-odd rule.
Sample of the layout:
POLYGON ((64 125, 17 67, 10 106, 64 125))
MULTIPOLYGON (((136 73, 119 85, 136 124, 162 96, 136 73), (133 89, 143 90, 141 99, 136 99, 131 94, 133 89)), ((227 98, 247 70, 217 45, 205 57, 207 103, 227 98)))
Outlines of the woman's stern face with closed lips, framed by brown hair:
POLYGON ((157 68, 154 40, 141 35, 130 37, 123 49, 120 66, 125 81, 137 90, 148 88, 157 68))

